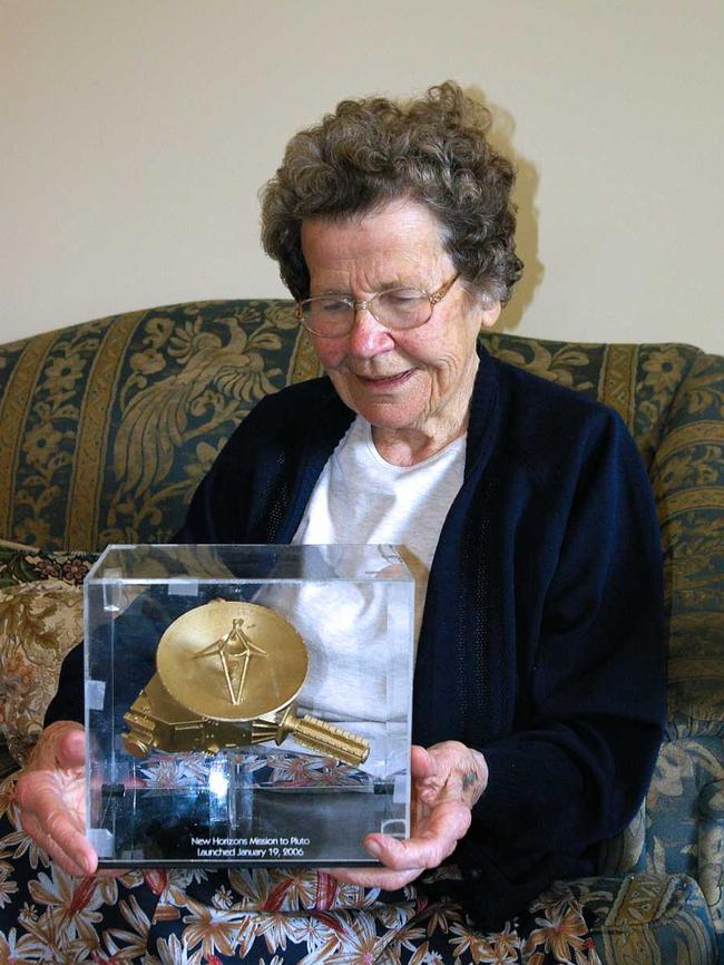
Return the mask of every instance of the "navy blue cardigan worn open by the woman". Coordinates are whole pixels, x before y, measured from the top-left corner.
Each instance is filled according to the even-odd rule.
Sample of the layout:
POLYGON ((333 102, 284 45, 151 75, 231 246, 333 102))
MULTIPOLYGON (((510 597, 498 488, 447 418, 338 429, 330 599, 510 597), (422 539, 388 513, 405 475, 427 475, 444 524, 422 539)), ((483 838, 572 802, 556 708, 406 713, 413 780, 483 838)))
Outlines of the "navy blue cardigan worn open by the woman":
MULTIPOLYGON (((354 413, 319 379, 266 397, 177 542, 288 543, 354 413)), ((413 738, 490 777, 458 847, 478 922, 595 870, 634 816, 665 715, 659 527, 622 420, 480 350, 462 487, 430 571, 413 738)), ((60 706, 49 715, 61 715, 60 706)))

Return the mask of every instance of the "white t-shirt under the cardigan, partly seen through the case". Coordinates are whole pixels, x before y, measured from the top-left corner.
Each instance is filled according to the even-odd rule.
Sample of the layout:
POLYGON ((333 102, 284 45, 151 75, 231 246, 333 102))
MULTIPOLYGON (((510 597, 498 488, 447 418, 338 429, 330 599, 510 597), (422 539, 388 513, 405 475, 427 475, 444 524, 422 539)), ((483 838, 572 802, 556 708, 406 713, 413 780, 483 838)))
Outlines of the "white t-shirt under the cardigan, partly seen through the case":
MULTIPOLYGON (((370 423, 358 416, 327 460, 292 540, 403 547, 415 581, 415 642, 440 530, 462 485, 464 452, 460 437, 422 462, 393 466, 378 452, 370 423)), ((390 680, 407 679, 409 672, 398 674, 390 663, 387 610, 373 586, 341 583, 333 598, 329 584, 276 587, 272 593, 264 602, 283 603, 307 646, 310 670, 300 713, 309 710, 352 730, 364 722, 368 734, 375 721, 383 725, 407 719, 409 688, 395 693, 390 680)), ((409 654, 400 659, 409 663, 409 654)))

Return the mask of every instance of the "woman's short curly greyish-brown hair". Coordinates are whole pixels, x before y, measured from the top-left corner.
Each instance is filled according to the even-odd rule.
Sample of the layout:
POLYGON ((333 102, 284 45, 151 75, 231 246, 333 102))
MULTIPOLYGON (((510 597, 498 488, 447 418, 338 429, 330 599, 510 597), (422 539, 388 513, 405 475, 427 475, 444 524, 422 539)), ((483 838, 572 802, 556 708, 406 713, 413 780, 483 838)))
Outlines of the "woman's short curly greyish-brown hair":
POLYGON ((487 139, 489 111, 451 81, 407 104, 343 100, 295 134, 262 189, 262 243, 295 299, 310 294, 305 218, 346 218, 410 198, 428 208, 463 281, 507 302, 516 255, 513 165, 487 139))

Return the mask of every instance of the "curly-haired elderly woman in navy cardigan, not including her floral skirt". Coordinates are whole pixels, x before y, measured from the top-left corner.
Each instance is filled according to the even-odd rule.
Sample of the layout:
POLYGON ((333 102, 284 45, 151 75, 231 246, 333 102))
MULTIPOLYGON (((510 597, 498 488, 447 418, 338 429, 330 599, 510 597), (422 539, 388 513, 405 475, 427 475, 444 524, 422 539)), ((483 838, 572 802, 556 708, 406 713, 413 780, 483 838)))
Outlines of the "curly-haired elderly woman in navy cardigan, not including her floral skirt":
MULTIPOLYGON (((612 411, 478 342, 522 267, 513 168, 487 126, 446 84, 407 106, 343 101, 291 140, 263 241, 326 377, 256 407, 178 539, 405 547, 415 820, 408 840, 365 839, 384 867, 333 874, 388 891, 422 876, 419 895, 454 891, 491 929, 590 874, 635 813, 664 686, 658 526, 634 442, 612 411)), ((69 673, 49 721, 69 717, 69 673)), ((56 722, 18 789, 26 830, 77 875, 96 867, 72 799, 81 759, 77 725, 56 722)), ((446 942, 429 954, 452 959, 446 942)))

